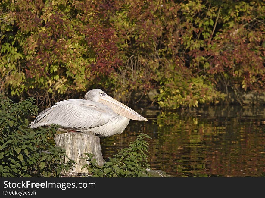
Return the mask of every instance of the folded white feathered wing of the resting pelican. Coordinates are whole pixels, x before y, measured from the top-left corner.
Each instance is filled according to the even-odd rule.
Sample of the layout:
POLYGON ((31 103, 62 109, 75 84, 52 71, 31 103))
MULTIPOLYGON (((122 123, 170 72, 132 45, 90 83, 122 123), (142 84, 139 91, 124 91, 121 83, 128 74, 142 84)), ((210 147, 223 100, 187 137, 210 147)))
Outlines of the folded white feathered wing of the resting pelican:
POLYGON ((63 100, 42 111, 30 128, 58 124, 62 128, 85 130, 106 124, 113 112, 108 106, 83 99, 63 100))

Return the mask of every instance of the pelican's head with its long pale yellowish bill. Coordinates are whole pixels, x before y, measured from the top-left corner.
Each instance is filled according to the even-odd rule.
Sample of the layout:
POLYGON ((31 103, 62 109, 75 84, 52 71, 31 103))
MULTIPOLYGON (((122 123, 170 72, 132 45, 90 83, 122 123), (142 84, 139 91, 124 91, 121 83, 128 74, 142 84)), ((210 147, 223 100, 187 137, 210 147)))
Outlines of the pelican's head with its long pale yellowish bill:
POLYGON ((101 89, 93 89, 89 90, 85 97, 85 100, 91 100, 94 102, 103 103, 104 105, 107 105, 109 108, 111 108, 114 112, 117 114, 120 114, 122 116, 125 116, 126 118, 129 118, 131 120, 145 120, 142 115, 134 111, 133 109, 129 108, 128 106, 122 104, 121 102, 115 100, 111 96, 108 96, 104 91, 101 89))

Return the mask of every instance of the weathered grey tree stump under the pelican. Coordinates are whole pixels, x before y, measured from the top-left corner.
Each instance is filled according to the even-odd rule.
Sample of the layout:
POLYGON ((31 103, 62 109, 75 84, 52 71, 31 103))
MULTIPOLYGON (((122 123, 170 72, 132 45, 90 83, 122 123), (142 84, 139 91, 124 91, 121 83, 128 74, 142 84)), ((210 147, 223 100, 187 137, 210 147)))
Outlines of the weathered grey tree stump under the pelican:
MULTIPOLYGON (((57 134, 54 136, 55 146, 61 147, 66 150, 66 155, 76 161, 73 170, 68 172, 73 173, 88 173, 86 168, 80 170, 83 165, 88 164, 86 159, 80 159, 81 157, 87 157, 83 153, 93 154, 93 158, 96 159, 98 165, 103 165, 105 160, 102 157, 100 148, 100 139, 98 136, 94 135, 92 132, 69 132, 63 134, 57 134)), ((69 161, 67 158, 64 162, 69 161)))

